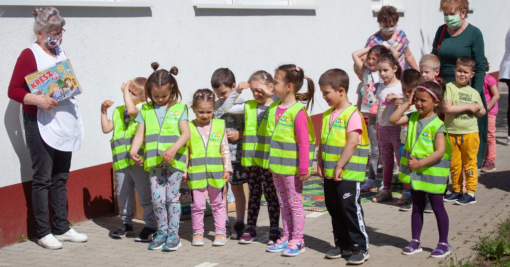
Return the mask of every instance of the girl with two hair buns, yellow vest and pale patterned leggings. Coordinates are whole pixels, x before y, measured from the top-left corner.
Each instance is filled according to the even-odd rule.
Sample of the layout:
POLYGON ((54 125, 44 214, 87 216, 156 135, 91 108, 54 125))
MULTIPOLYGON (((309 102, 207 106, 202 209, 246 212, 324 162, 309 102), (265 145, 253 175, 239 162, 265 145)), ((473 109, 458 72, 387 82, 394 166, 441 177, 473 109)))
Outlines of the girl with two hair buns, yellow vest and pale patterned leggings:
POLYGON ((158 63, 151 66, 154 72, 145 83, 145 95, 152 101, 142 107, 135 119, 138 129, 130 156, 149 173, 158 232, 148 249, 174 251, 181 247, 179 189, 186 167, 186 143, 190 138, 188 108, 177 102, 181 97, 173 77, 177 75, 177 68, 168 71, 158 70, 158 63), (138 150, 144 140, 142 158, 138 150))

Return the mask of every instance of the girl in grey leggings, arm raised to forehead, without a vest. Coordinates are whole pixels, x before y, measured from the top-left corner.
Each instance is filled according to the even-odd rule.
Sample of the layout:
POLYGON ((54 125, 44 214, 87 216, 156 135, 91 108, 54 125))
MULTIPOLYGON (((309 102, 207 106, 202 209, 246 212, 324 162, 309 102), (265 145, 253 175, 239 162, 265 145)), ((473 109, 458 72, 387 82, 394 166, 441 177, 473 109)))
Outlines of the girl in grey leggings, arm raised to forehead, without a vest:
POLYGON ((362 50, 352 53, 354 65, 363 73, 363 88, 359 94, 358 103, 360 112, 368 116, 368 137, 370 140, 370 156, 368 159, 369 171, 368 180, 361 186, 361 191, 377 190, 375 185, 375 175, 377 173, 377 164, 379 162, 379 143, 375 136, 375 121, 379 102, 375 98, 377 87, 380 84, 379 72, 377 71, 377 58, 382 54, 388 54, 388 48, 382 45, 366 47, 362 50), (366 65, 362 57, 367 55, 366 65))

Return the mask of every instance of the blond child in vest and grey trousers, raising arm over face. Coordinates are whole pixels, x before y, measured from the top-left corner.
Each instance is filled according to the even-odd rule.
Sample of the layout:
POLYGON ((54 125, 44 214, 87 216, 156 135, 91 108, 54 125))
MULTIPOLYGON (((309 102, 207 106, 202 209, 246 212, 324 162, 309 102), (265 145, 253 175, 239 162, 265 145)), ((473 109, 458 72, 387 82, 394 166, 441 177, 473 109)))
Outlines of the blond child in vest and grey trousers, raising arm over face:
MULTIPOLYGON (((134 231, 132 220, 135 216, 133 200, 135 199, 136 186, 140 206, 143 207, 145 227, 135 237, 135 241, 151 241, 152 237, 156 235, 156 217, 152 209, 147 174, 143 167, 136 165, 129 156, 131 142, 138 126, 135 118, 145 102, 144 85, 146 80, 146 78, 138 77, 125 84, 122 83, 121 90, 124 94, 125 105, 115 108, 113 114, 107 115, 107 110, 113 105, 113 101, 106 100, 101 105, 103 133, 113 131, 111 140, 113 168, 117 184, 117 203, 120 219, 122 219, 122 225, 113 232, 113 237, 122 238, 134 231)), ((143 152, 138 154, 143 155, 143 152)))

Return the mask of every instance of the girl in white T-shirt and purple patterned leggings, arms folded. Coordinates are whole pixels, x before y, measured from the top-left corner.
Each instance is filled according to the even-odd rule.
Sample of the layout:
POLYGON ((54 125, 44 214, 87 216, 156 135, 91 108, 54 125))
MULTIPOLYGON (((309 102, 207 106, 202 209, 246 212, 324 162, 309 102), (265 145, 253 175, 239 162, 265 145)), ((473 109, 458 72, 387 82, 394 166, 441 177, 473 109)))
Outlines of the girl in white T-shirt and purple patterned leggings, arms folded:
POLYGON ((393 178, 393 158, 396 156, 400 165, 398 150, 400 148, 400 126, 393 126, 388 122, 393 106, 398 98, 402 98, 400 76, 402 69, 398 61, 391 54, 383 54, 378 58, 377 69, 384 83, 379 85, 376 99, 380 106, 377 110, 376 136, 382 156, 382 188, 372 199, 372 202, 392 200, 391 186, 393 178))

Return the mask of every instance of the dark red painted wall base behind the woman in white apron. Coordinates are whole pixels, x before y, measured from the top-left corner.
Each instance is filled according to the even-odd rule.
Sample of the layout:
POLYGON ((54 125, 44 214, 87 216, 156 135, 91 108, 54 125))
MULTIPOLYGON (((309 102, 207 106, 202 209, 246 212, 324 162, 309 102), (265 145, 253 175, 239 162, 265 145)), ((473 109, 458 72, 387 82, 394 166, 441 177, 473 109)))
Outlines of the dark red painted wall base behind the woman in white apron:
MULTIPOLYGON (((112 163, 71 172, 67 181, 69 221, 82 222, 113 213, 112 181, 112 163)), ((0 247, 18 241, 19 235, 37 237, 32 181, 0 187, 0 196, 0 247)))

